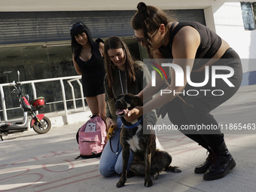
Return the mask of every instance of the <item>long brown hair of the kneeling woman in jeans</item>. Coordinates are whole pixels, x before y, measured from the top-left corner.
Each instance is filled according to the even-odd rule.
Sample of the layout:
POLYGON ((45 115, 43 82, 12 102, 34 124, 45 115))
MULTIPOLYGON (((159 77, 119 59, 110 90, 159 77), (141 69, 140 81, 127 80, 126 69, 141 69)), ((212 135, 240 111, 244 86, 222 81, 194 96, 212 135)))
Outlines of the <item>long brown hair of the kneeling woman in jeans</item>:
POLYGON ((108 78, 108 87, 112 87, 114 84, 114 69, 117 70, 117 66, 114 66, 114 63, 108 56, 108 50, 110 49, 123 49, 125 55, 125 67, 127 73, 127 83, 128 86, 131 86, 136 81, 136 69, 139 68, 139 65, 136 64, 135 59, 130 54, 130 50, 127 45, 123 42, 122 39, 117 36, 111 36, 105 40, 104 43, 104 59, 105 59, 105 68, 107 71, 108 78))

